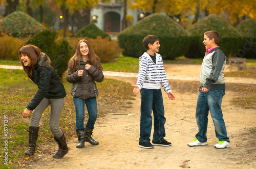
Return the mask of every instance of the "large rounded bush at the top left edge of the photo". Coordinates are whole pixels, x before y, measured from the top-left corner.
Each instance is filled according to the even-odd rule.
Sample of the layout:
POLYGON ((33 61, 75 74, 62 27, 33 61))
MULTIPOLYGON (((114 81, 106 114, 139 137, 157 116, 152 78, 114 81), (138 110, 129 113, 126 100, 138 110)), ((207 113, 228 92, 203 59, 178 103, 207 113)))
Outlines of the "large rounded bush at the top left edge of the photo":
POLYGON ((0 20, 0 33, 13 37, 32 37, 45 30, 45 27, 34 18, 20 11, 12 12, 0 20))

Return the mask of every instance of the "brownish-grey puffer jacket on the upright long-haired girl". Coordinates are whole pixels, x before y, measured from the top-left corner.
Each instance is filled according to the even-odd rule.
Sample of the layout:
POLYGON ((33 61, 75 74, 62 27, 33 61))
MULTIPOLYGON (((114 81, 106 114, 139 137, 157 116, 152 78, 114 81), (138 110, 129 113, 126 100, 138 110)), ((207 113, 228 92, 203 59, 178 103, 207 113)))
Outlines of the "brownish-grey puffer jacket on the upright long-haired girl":
POLYGON ((100 69, 91 65, 91 67, 86 70, 86 64, 91 65, 89 60, 87 62, 80 60, 80 68, 77 62, 74 73, 71 73, 70 69, 67 71, 67 81, 73 83, 71 95, 80 99, 97 97, 99 94, 95 81, 101 82, 104 79, 104 75, 100 69), (83 70, 82 76, 78 76, 78 70, 83 70))

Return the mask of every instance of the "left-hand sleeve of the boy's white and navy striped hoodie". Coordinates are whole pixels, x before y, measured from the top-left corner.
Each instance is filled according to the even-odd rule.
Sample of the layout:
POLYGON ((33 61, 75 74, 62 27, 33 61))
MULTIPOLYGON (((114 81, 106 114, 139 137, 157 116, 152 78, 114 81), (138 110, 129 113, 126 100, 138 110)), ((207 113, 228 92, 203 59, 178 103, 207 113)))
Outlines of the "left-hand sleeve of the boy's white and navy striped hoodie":
POLYGON ((146 57, 140 57, 139 58, 139 75, 138 75, 138 80, 136 83, 136 86, 139 87, 139 89, 142 89, 144 79, 146 77, 146 72, 147 72, 147 60, 146 57))

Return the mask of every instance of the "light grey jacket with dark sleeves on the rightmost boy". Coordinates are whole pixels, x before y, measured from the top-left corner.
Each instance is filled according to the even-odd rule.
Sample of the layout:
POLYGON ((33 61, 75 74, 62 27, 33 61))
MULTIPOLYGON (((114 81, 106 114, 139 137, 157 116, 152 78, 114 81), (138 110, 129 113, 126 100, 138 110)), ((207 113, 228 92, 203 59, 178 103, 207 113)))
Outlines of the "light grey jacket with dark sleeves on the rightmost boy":
POLYGON ((226 57, 219 46, 205 54, 200 72, 200 88, 204 87, 209 91, 225 90, 225 66, 226 57))

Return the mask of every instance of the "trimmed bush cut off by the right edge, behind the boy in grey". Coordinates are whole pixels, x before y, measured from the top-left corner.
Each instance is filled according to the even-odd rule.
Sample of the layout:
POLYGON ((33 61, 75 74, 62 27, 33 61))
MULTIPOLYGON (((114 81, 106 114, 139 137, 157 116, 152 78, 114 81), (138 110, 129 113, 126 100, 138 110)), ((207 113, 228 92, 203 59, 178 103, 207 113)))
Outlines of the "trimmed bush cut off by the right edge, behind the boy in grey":
POLYGON ((246 19, 236 27, 243 36, 243 45, 238 57, 256 59, 256 20, 246 19))

